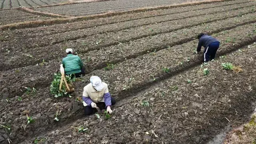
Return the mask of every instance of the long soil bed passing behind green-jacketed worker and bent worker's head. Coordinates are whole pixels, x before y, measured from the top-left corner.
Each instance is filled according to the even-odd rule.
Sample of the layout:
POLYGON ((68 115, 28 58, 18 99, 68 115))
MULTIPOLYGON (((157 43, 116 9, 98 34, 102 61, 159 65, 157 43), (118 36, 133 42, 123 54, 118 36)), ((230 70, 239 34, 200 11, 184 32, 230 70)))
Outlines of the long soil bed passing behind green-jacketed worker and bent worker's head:
MULTIPOLYGON (((191 41, 194 39, 194 37, 196 37, 198 33, 202 32, 202 30, 212 34, 212 33, 220 32, 223 30, 235 28, 236 26, 239 26, 239 25, 255 22, 255 19, 256 19, 256 16, 254 16, 254 14, 248 14, 248 15, 244 15, 243 17, 242 16, 235 17, 227 20, 221 20, 218 22, 203 24, 201 26, 194 26, 192 28, 177 30, 167 34, 161 34, 161 35, 156 35, 152 37, 146 37, 143 39, 138 39, 130 43, 117 45, 116 47, 114 46, 108 47, 106 51, 102 51, 101 53, 97 53, 97 51, 93 53, 92 52, 87 53, 86 56, 82 56, 81 58, 84 60, 87 60, 86 69, 89 72, 94 70, 95 67, 101 69, 105 65, 105 63, 102 63, 101 61, 106 61, 108 63, 111 63, 111 62, 121 63, 123 61, 122 63, 126 63, 126 59, 138 57, 140 54, 146 54, 150 52, 154 53, 155 50, 158 51, 170 45, 172 46, 172 45, 191 41), (88 60, 88 57, 90 57, 91 59, 88 60), (97 61, 99 63, 96 63, 97 61)), ((54 53, 54 51, 52 52, 54 53)), ((26 55, 26 53, 24 53, 24 55, 26 55)), ((33 61, 33 59, 32 60, 30 59, 32 58, 28 57, 28 60, 23 59, 24 61, 15 61, 13 63, 10 63, 10 65, 11 64, 14 65, 14 63, 15 65, 20 65, 20 64, 23 64, 25 61, 33 61)), ((16 88, 15 86, 12 86, 12 85, 8 85, 8 86, 3 85, 2 86, 3 91, 7 93, 9 97, 14 97, 16 95, 20 95, 20 89, 24 89, 24 85, 26 85, 27 87, 37 87, 38 85, 40 85, 41 84, 41 82, 39 81, 40 79, 44 79, 45 81, 44 84, 49 85, 52 79, 52 73, 54 73, 54 71, 58 69, 58 65, 60 61, 61 59, 57 61, 56 60, 48 61, 48 63, 43 63, 43 66, 40 67, 40 63, 42 63, 42 60, 40 61, 38 60, 37 61, 38 66, 33 65, 29 67, 3 71, 1 75, 3 82, 9 81, 10 83, 13 83, 13 84, 15 83, 15 85, 20 85, 20 87, 16 87, 16 88), (13 73, 15 75, 15 79, 11 79, 11 80, 4 79, 5 75, 9 75, 10 73, 13 73), (31 73, 31 75, 33 75, 34 78, 31 78, 31 75, 25 75, 25 73, 31 73), (47 75, 47 76, 38 75, 39 73, 50 73, 50 75, 47 75)), ((121 73, 122 72, 120 71, 120 74, 121 73)), ((92 75, 92 74, 94 74, 94 71, 92 73, 89 73, 88 75, 92 75)))

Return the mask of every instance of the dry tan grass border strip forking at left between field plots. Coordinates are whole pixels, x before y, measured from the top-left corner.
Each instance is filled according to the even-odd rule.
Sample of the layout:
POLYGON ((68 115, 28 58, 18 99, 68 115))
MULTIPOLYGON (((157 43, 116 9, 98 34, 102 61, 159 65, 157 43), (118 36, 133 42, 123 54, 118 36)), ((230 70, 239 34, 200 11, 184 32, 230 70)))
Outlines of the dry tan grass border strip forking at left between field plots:
POLYGON ((121 14, 129 14, 134 12, 145 12, 150 10, 159 10, 159 9, 168 9, 168 8, 176 8, 176 7, 182 7, 182 6, 194 6, 198 4, 208 4, 213 2, 224 2, 224 1, 230 1, 230 0, 202 0, 202 1, 190 1, 190 2, 184 2, 181 4, 172 4, 169 6, 158 6, 158 7, 150 7, 150 8, 139 8, 135 10, 128 10, 128 11, 120 11, 120 12, 106 12, 102 14, 94 14, 90 16, 76 16, 76 17, 68 17, 68 16, 61 16, 58 14, 52 14, 47 12, 39 12, 30 10, 28 8, 21 8, 22 10, 26 12, 30 12, 32 14, 37 14, 41 16, 50 16, 50 17, 62 17, 62 18, 54 18, 50 20, 39 20, 39 21, 29 21, 29 22, 20 22, 16 24, 6 24, 3 26, 0 26, 0 30, 7 30, 7 29, 22 29, 22 28, 34 28, 38 26, 44 26, 44 25, 53 25, 53 24, 64 24, 67 22, 77 22, 82 20, 90 20, 95 18, 106 18, 110 16, 116 16, 121 14))

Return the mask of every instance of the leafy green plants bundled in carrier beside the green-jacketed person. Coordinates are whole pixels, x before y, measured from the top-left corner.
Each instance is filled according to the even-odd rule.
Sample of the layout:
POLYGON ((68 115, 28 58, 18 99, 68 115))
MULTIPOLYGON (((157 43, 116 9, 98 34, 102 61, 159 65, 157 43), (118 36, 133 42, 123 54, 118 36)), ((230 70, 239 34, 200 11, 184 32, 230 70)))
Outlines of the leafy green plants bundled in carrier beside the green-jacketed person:
MULTIPOLYGON (((71 97, 67 91, 66 85, 62 84, 61 91, 59 91, 61 80, 61 73, 54 73, 54 79, 50 85, 50 93, 54 95, 54 97, 71 97)), ((66 81, 70 89, 72 89, 72 82, 76 81, 76 78, 71 78, 70 76, 66 76, 66 81)))

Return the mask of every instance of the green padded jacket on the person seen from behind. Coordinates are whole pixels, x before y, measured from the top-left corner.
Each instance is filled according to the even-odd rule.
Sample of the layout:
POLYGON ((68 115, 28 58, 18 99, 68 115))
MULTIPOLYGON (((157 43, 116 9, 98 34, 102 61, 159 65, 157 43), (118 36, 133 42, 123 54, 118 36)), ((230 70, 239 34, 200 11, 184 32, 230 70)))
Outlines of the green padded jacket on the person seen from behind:
POLYGON ((83 63, 78 55, 68 54, 62 59, 62 64, 66 75, 72 73, 80 73, 83 67, 83 63))

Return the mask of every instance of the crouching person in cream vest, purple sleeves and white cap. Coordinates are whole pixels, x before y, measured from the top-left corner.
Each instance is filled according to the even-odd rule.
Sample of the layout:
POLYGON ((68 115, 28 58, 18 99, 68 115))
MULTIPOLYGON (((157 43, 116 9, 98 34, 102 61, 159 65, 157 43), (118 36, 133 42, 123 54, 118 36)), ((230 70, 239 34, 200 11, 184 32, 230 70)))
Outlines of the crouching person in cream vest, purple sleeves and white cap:
POLYGON ((101 81, 100 77, 92 76, 90 83, 84 87, 83 104, 85 115, 90 115, 94 112, 93 108, 98 108, 98 103, 103 103, 107 112, 112 113, 111 106, 116 103, 115 99, 108 92, 108 85, 101 81))

